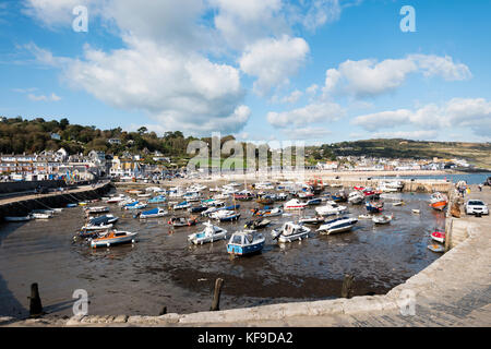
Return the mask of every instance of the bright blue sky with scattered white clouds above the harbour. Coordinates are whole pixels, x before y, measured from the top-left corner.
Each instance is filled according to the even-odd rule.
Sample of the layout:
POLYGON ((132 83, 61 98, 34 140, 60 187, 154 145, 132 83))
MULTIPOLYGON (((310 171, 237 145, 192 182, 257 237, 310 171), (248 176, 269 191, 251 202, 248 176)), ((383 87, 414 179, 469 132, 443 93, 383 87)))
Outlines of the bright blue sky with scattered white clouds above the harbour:
POLYGON ((0 116, 284 144, 490 142, 489 13, 487 0, 2 0, 0 116))

